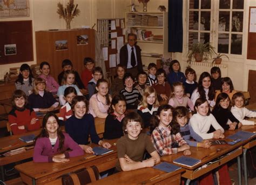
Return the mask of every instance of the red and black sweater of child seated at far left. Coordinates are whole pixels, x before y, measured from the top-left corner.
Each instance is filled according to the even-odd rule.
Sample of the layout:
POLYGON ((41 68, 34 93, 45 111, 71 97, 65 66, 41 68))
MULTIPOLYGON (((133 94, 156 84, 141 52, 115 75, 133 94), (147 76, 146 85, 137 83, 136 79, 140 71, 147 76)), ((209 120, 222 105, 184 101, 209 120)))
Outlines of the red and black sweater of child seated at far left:
POLYGON ((27 131, 33 131, 41 127, 39 120, 35 124, 31 125, 31 119, 37 118, 36 113, 28 108, 13 108, 8 115, 8 121, 11 126, 12 133, 22 134, 27 131), (25 129, 19 129, 19 126, 25 126, 25 129))

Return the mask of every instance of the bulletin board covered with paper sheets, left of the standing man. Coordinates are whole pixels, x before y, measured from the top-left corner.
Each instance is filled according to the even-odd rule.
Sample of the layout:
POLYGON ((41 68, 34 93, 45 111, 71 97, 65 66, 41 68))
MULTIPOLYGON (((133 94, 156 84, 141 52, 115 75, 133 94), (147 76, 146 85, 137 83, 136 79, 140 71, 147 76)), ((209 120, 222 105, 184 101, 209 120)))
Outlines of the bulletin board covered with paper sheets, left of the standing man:
POLYGON ((102 45, 106 72, 115 72, 119 52, 125 43, 124 18, 97 19, 97 32, 102 45))

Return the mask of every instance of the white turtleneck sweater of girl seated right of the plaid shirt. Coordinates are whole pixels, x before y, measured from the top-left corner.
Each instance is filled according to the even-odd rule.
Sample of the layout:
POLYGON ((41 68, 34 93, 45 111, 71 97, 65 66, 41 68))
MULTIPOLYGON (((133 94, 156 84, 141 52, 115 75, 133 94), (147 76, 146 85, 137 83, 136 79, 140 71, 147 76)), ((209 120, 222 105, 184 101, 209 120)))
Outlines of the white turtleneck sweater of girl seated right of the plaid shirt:
POLYGON ((193 137, 193 132, 197 133, 201 138, 203 139, 212 139, 213 133, 207 133, 211 127, 215 128, 215 130, 220 129, 221 133, 224 133, 223 127, 221 127, 214 116, 212 114, 210 115, 200 115, 200 114, 194 114, 190 119, 190 128, 193 129, 191 135, 193 137))

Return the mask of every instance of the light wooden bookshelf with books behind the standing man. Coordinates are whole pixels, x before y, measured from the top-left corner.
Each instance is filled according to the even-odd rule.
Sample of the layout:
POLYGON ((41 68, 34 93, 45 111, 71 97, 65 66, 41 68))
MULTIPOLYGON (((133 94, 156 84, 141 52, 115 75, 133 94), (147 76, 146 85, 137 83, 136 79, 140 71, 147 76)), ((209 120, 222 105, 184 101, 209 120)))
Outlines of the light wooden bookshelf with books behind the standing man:
POLYGON ((129 33, 137 35, 142 49, 143 65, 168 56, 168 12, 126 12, 126 40, 129 33))

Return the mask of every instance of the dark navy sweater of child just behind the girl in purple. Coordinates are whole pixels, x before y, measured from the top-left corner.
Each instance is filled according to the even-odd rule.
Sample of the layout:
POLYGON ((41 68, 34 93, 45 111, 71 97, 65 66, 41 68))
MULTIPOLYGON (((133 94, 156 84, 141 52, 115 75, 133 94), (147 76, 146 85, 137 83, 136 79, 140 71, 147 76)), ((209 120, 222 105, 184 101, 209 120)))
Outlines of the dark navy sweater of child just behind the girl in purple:
POLYGON ((78 145, 87 145, 89 135, 93 143, 98 144, 99 136, 96 133, 94 118, 91 114, 85 114, 82 119, 72 115, 65 121, 65 131, 78 145))

